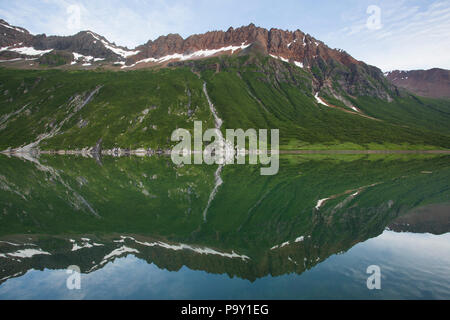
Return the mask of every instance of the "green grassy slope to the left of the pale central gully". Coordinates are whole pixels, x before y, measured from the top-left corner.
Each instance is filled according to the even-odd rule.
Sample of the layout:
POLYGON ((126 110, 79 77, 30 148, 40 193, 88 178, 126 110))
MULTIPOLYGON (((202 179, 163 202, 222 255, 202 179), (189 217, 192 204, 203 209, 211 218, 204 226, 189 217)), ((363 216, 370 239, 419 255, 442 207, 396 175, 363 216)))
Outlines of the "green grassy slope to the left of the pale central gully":
POLYGON ((177 127, 193 128, 195 120, 213 125, 203 83, 185 69, 120 73, 2 69, 0 74, 2 150, 31 143, 61 123, 58 134, 42 141, 41 149, 83 148, 100 138, 109 148, 156 149, 170 143, 177 127), (77 104, 98 86, 98 94, 77 111, 77 104))

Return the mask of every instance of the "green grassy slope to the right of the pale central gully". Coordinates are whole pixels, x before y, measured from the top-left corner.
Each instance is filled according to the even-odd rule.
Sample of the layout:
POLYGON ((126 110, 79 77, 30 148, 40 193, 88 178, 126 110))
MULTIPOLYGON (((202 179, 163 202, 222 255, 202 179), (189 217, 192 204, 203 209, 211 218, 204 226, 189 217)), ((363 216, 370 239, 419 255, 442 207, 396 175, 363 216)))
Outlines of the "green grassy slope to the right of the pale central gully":
POLYGON ((206 69, 203 77, 224 127, 279 128, 286 149, 449 147, 450 101, 430 100, 436 107, 426 108, 418 99, 360 97, 357 105, 373 120, 317 104, 310 74, 291 64, 249 57, 215 62, 221 72, 206 69))

